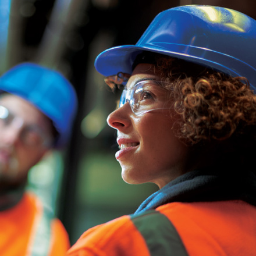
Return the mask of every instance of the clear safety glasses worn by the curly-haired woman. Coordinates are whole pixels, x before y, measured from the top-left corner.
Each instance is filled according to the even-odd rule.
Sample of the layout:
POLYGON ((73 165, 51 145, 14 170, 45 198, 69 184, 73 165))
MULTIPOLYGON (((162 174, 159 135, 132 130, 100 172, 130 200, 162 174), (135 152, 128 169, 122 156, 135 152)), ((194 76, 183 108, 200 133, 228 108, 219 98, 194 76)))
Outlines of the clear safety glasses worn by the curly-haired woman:
POLYGON ((170 92, 163 87, 163 84, 167 83, 143 80, 129 90, 125 87, 120 97, 119 108, 129 102, 131 110, 137 116, 157 109, 169 109, 170 92))

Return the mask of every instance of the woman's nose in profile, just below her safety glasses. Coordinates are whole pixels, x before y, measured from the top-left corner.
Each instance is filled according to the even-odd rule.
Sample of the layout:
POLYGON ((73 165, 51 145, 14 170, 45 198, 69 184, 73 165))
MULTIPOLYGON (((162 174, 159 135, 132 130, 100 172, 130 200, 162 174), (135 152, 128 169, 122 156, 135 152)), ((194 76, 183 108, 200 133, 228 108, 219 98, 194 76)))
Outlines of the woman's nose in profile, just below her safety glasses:
POLYGON ((129 102, 126 102, 126 104, 110 113, 108 115, 108 118, 106 119, 106 122, 112 128, 120 130, 124 127, 129 126, 130 112, 131 108, 129 102))

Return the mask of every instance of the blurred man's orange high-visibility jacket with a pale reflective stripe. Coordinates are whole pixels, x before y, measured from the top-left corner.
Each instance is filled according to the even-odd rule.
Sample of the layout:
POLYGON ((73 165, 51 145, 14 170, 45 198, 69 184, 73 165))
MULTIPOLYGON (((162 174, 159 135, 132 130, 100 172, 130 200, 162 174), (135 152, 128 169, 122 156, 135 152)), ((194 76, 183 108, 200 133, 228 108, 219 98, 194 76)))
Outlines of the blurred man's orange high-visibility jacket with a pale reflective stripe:
POLYGON ((62 256, 69 247, 61 221, 49 218, 35 195, 25 193, 15 207, 0 212, 1 256, 62 256))

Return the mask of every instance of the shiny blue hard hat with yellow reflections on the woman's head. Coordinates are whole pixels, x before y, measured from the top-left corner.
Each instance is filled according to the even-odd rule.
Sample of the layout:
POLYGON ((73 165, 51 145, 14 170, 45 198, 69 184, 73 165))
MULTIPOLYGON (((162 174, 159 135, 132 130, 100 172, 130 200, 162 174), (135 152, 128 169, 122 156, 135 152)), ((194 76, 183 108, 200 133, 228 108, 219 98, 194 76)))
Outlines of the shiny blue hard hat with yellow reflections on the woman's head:
POLYGON ((131 74, 143 51, 157 52, 244 76, 256 88, 256 20, 236 10, 187 5, 159 13, 136 45, 107 49, 95 59, 104 76, 131 74))

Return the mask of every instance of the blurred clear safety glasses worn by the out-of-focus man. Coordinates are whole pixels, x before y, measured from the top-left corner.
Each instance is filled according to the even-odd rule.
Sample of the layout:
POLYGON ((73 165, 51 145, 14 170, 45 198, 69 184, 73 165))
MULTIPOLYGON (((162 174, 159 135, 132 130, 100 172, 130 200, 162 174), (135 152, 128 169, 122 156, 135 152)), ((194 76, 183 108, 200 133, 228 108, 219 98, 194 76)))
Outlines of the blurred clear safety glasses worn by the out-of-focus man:
POLYGON ((26 125, 23 118, 13 115, 5 106, 0 105, 0 130, 15 127, 20 129, 20 140, 24 145, 50 147, 52 138, 38 125, 26 125))

